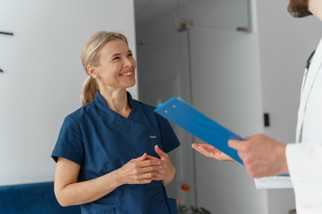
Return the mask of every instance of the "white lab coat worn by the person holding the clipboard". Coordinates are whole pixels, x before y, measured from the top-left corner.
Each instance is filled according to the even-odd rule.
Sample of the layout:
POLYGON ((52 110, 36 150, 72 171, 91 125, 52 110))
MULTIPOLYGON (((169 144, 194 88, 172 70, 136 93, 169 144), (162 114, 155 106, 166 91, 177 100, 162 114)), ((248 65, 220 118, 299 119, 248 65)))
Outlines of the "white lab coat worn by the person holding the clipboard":
POLYGON ((322 214, 322 39, 298 110, 296 143, 286 147, 290 177, 255 179, 257 188, 294 188, 297 214, 322 214), (301 130, 302 129, 302 130, 301 130))

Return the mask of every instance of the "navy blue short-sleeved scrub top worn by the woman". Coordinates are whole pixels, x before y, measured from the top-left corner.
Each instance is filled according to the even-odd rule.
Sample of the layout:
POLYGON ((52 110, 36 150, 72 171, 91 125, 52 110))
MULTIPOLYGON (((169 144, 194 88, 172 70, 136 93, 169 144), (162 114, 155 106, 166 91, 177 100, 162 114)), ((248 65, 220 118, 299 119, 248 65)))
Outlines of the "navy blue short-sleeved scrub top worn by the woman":
MULTIPOLYGON (((57 162, 62 157, 81 165, 78 181, 87 181, 114 171, 131 159, 154 151, 164 152, 180 145, 170 123, 154 112, 155 107, 133 100, 128 118, 111 110, 99 92, 91 103, 66 116, 52 151, 57 162)), ((169 199, 162 181, 119 186, 103 198, 81 205, 87 213, 177 213, 176 202, 169 199)))

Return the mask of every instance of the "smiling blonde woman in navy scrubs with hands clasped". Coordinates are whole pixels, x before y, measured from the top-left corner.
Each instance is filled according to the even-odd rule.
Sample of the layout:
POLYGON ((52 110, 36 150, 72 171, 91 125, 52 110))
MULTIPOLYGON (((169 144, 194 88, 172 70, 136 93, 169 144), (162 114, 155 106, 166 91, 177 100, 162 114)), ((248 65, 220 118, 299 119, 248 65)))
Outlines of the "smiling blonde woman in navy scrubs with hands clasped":
POLYGON ((89 75, 82 107, 66 116, 52 151, 55 194, 82 213, 177 213, 165 186, 175 174, 167 152, 180 145, 154 107, 133 100, 136 61, 127 38, 99 31, 81 60, 89 75))

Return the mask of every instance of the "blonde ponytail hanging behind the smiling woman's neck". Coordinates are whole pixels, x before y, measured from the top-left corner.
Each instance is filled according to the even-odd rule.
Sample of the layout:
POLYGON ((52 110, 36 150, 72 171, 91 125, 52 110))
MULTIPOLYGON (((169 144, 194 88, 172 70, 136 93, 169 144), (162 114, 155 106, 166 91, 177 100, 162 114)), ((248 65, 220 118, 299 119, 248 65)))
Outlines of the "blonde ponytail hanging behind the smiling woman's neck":
POLYGON ((83 83, 83 89, 81 94, 81 105, 90 103, 95 99, 95 93, 98 91, 98 85, 96 81, 91 77, 87 76, 83 83))

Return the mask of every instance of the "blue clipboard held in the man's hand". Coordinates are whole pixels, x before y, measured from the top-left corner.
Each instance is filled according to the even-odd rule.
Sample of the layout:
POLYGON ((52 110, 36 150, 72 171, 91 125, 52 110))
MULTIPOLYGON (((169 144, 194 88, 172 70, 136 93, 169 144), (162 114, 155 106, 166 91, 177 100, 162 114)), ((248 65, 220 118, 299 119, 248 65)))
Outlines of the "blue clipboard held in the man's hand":
POLYGON ((243 140, 243 138, 214 122, 187 101, 173 97, 159 104, 154 111, 243 164, 237 151, 227 144, 229 139, 243 140))

